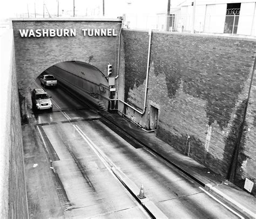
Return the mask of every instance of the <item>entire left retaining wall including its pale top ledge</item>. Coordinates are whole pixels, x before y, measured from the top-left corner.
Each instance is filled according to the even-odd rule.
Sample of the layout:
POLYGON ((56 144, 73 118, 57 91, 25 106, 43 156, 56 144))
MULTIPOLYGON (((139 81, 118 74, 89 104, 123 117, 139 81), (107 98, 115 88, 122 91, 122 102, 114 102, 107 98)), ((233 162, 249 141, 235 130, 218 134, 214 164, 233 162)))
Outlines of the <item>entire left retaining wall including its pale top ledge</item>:
POLYGON ((13 37, 12 31, 0 36, 0 218, 28 218, 13 37))

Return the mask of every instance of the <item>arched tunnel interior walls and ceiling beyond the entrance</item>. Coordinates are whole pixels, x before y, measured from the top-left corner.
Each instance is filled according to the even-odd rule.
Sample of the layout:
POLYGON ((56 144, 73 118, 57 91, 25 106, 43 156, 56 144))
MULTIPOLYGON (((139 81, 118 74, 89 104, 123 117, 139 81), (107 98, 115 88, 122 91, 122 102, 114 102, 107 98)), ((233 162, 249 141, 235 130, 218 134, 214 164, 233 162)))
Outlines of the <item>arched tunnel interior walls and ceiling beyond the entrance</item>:
POLYGON ((60 62, 45 69, 31 82, 27 95, 28 109, 33 108, 32 93, 36 88, 44 89, 46 92, 54 89, 65 90, 79 100, 91 104, 99 111, 106 111, 109 107, 110 91, 107 77, 95 66, 82 61, 60 62), (55 80, 51 80, 51 77, 45 75, 53 75, 55 80))

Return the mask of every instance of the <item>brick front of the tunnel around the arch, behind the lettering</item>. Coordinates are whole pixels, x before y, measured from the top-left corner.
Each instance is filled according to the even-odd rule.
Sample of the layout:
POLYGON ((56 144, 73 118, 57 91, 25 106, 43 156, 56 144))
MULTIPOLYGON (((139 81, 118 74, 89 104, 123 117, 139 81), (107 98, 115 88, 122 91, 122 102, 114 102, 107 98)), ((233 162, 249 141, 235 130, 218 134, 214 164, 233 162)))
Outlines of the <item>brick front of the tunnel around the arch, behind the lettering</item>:
POLYGON ((25 96, 32 83, 45 69, 63 61, 83 61, 98 68, 106 75, 107 63, 114 62, 118 37, 83 36, 82 29, 116 29, 117 20, 12 20, 14 29, 17 81, 22 114, 25 114, 25 96), (19 30, 26 29, 76 29, 76 37, 22 38, 19 30))

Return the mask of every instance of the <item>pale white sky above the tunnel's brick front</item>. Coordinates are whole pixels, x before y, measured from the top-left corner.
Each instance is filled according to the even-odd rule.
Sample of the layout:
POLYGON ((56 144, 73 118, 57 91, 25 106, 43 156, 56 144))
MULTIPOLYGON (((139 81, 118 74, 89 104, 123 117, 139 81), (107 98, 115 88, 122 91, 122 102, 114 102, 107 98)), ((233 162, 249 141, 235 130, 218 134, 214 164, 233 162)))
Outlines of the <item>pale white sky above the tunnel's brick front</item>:
MULTIPOLYGON (((3 0, 0 3, 0 20, 28 15, 43 17, 43 9, 45 17, 49 17, 49 14, 51 17, 57 17, 58 13, 59 17, 72 17, 74 1, 76 17, 102 16, 103 0, 3 0)), ((171 0, 172 6, 178 2, 182 1, 171 0)), ((116 18, 123 16, 130 9, 139 14, 165 12, 168 0, 104 0, 104 3, 105 17, 116 18)))

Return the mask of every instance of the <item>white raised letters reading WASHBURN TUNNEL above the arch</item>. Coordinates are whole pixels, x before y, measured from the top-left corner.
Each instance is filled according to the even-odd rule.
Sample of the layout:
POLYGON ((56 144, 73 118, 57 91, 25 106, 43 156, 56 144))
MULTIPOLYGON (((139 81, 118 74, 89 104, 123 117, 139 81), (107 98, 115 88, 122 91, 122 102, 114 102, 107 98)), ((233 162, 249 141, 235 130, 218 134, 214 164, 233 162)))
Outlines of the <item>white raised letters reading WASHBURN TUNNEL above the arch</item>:
MULTIPOLYGON (((19 30, 21 37, 76 37, 76 29, 26 29, 19 30)), ((115 29, 82 29, 83 36, 116 37, 115 29)))

